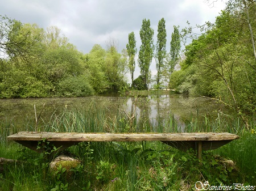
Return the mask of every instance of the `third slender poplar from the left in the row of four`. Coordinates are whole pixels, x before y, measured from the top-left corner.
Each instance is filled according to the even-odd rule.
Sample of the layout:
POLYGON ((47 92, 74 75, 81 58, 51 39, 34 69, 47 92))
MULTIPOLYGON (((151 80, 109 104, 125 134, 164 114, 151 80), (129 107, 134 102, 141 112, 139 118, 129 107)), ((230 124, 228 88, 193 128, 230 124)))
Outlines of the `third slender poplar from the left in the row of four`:
POLYGON ((164 60, 166 58, 166 21, 164 18, 158 22, 158 41, 156 42, 156 87, 159 88, 164 60))

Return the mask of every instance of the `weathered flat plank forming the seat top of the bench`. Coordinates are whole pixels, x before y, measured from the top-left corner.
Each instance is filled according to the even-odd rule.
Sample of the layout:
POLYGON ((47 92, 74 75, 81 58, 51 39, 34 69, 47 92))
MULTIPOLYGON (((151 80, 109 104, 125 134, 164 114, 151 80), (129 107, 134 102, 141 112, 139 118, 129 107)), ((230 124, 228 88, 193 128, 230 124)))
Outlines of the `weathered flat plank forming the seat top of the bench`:
POLYGON ((237 139, 230 133, 55 133, 19 132, 7 137, 12 141, 222 141, 237 139))

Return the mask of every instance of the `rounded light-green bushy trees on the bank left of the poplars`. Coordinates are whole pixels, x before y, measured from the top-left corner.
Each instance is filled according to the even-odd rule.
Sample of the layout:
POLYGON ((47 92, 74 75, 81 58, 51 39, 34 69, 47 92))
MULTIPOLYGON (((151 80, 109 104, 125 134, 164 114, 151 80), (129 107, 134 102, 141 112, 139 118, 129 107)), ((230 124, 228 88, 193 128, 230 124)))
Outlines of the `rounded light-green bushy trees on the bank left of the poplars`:
POLYGON ((0 18, 0 98, 88 96, 126 87, 127 58, 110 39, 107 49, 82 54, 57 27, 0 18))

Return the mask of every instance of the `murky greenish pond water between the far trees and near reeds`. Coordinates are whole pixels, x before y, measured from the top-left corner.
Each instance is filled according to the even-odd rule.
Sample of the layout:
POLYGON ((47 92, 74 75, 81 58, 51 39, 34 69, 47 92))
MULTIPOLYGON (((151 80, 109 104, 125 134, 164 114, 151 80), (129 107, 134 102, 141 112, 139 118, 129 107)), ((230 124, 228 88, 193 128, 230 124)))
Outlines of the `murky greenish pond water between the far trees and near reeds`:
POLYGON ((175 119, 181 130, 186 120, 217 117, 225 106, 205 97, 187 95, 150 94, 137 96, 90 96, 72 98, 7 99, 0 100, 0 122, 11 121, 17 129, 26 123, 35 124, 35 115, 47 122, 53 114, 76 110, 105 109, 109 117, 117 113, 135 116, 137 120, 148 121, 153 127, 166 118, 175 119))

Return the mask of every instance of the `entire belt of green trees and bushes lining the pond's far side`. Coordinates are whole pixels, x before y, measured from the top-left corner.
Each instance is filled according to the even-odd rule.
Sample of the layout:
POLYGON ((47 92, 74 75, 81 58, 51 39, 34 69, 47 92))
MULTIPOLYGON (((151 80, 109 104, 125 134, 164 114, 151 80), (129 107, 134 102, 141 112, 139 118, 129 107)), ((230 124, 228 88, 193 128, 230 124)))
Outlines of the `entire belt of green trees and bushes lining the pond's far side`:
POLYGON ((156 44, 150 20, 143 19, 138 51, 131 32, 122 53, 117 40, 109 39, 106 49, 94 45, 83 54, 56 27, 44 30, 1 16, 0 98, 88 96, 127 88, 147 90, 151 85, 213 97, 239 114, 255 113, 255 9, 255 1, 230 0, 214 23, 199 26, 203 33, 196 37, 191 27, 174 26, 168 52, 164 18, 158 23, 156 44), (194 40, 185 46, 181 59, 186 37, 194 40), (134 79, 137 52, 141 75, 134 79), (153 58, 155 77, 150 71, 153 58), (181 69, 174 71, 177 63, 181 69))

